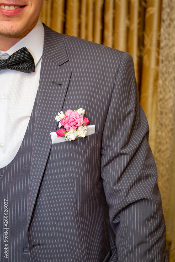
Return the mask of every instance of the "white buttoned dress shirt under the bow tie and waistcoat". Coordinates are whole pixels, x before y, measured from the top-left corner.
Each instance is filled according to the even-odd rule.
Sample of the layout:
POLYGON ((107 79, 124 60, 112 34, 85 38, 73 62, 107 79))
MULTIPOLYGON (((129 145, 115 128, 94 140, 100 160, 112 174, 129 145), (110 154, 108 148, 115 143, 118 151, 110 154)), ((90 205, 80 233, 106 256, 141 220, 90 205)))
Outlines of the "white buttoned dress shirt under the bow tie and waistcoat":
POLYGON ((38 20, 29 34, 0 51, 0 59, 7 59, 25 46, 35 61, 35 73, 0 70, 0 168, 14 159, 23 141, 39 86, 43 45, 44 27, 38 20))

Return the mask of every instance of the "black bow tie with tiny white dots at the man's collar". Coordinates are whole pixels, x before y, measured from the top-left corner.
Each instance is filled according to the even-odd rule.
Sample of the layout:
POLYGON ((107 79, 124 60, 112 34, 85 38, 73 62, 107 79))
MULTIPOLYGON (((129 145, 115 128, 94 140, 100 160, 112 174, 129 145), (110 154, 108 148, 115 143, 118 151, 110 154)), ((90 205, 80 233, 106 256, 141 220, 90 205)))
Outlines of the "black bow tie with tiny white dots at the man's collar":
POLYGON ((24 73, 34 73, 35 62, 31 53, 26 47, 23 47, 7 59, 0 60, 0 69, 11 69, 24 73))

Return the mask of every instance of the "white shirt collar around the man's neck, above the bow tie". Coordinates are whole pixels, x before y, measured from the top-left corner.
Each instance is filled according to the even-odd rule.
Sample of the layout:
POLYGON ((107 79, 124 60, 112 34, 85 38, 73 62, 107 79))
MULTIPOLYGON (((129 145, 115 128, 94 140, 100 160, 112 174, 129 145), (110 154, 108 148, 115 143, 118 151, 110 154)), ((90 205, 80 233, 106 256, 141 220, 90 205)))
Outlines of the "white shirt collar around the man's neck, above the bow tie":
POLYGON ((36 66, 43 54, 44 46, 44 26, 41 23, 40 19, 38 19, 38 22, 36 23, 35 27, 26 36, 24 36, 14 46, 12 46, 9 50, 3 53, 11 55, 24 46, 32 54, 36 66))

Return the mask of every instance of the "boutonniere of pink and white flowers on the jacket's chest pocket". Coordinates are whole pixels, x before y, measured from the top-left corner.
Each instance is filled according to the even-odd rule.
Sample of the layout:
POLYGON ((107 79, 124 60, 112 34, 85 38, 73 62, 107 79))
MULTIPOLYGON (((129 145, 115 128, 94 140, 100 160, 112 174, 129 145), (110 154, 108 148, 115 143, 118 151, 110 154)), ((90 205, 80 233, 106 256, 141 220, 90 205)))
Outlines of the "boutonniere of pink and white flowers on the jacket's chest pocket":
POLYGON ((57 137, 65 137, 65 140, 75 140, 79 137, 85 137, 87 135, 86 125, 89 123, 89 119, 84 117, 85 110, 79 108, 77 110, 68 109, 66 112, 59 112, 55 117, 55 120, 59 122, 56 131, 57 137))

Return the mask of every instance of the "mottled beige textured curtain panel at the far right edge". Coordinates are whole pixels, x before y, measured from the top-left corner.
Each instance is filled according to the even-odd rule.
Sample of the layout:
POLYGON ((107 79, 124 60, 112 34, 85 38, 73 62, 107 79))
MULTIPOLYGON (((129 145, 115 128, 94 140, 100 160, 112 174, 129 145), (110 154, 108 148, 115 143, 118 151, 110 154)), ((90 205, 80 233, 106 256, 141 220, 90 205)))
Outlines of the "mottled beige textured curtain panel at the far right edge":
POLYGON ((169 261, 175 262, 175 0, 162 1, 157 85, 155 160, 167 230, 169 261))

